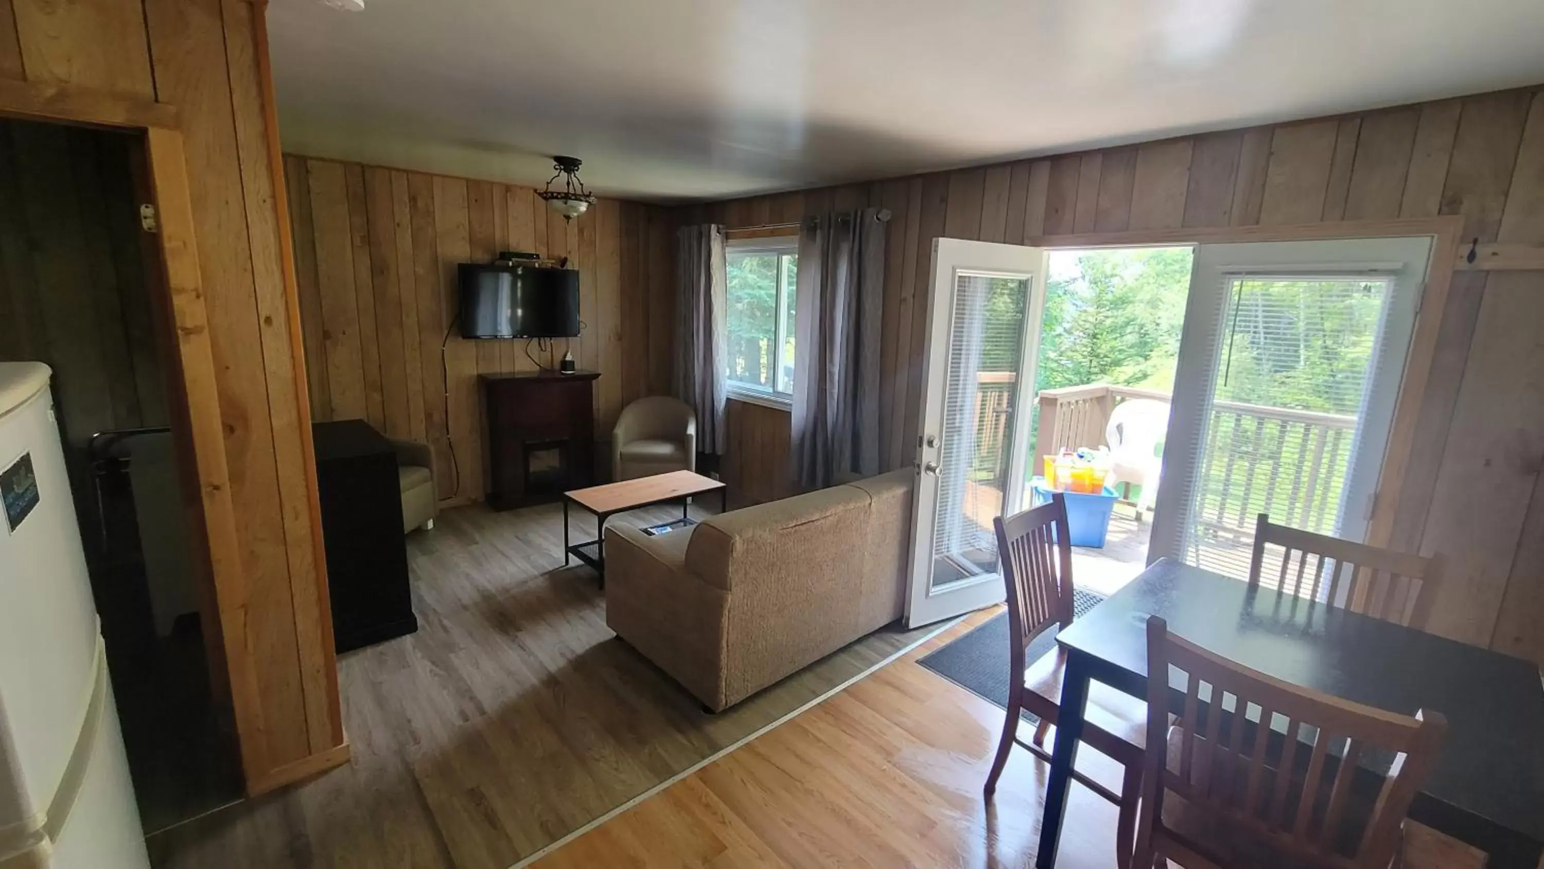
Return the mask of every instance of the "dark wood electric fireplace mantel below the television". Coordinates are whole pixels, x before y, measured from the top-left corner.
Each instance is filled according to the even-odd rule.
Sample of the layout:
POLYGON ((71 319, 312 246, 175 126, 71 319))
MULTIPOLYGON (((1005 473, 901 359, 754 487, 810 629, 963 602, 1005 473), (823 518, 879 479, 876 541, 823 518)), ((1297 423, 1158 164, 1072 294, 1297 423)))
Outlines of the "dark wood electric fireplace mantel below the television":
POLYGON ((483 374, 488 506, 556 502, 594 485, 593 370, 483 374))

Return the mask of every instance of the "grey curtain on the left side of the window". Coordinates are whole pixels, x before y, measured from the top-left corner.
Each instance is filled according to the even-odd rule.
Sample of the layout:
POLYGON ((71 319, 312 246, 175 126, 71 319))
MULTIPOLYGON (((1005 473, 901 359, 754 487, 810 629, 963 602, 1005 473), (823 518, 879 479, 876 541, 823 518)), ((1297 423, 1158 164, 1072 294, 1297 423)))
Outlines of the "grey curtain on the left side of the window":
POLYGON ((675 395, 696 411, 696 449, 723 455, 724 428, 724 227, 676 233, 675 395))

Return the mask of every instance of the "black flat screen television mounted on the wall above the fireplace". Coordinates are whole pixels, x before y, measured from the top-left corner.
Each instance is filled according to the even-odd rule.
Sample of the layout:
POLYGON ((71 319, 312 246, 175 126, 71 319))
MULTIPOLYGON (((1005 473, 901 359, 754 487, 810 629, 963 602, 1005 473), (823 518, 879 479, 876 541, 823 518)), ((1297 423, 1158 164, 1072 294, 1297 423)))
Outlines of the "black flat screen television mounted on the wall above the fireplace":
POLYGON ((536 265, 455 267, 462 338, 579 336, 579 272, 536 265))

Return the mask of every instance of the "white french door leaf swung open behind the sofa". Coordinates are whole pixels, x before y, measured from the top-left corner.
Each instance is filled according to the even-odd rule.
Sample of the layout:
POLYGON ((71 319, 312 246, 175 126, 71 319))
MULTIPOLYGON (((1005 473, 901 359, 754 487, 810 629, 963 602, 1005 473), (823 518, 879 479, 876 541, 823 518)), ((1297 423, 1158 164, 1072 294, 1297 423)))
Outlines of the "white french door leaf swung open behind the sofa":
POLYGON ((1021 503, 1045 252, 933 242, 906 624, 1004 599, 993 519, 1021 503))

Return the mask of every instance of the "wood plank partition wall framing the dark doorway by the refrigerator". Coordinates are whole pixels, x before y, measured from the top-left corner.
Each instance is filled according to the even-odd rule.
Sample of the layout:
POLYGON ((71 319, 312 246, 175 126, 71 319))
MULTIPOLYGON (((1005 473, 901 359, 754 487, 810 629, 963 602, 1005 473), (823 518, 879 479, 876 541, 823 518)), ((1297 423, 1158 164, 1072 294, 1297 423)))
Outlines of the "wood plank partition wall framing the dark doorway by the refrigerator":
POLYGON ((178 110, 235 508, 255 676, 238 721, 249 790, 340 758, 337 668, 315 551, 309 424, 290 343, 259 56, 261 0, 0 0, 0 76, 178 110))

